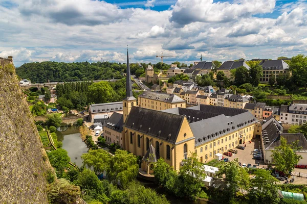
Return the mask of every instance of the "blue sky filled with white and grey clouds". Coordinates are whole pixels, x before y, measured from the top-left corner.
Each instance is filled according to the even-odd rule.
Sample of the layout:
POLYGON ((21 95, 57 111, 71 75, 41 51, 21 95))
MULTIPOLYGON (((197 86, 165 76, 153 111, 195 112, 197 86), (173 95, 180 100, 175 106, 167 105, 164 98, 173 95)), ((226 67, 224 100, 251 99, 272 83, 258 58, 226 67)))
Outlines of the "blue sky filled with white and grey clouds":
POLYGON ((0 0, 0 57, 28 62, 276 59, 307 52, 307 0, 0 0))

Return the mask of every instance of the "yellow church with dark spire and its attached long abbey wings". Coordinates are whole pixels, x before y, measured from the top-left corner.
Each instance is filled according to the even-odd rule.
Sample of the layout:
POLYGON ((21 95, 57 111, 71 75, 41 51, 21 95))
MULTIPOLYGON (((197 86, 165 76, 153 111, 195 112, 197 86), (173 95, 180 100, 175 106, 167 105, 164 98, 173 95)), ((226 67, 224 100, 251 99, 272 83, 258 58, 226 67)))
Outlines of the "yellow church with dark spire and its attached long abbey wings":
POLYGON ((152 163, 159 158, 178 171, 191 152, 206 163, 216 154, 261 135, 260 122, 244 109, 209 105, 165 110, 143 107, 133 96, 128 50, 123 114, 113 114, 103 129, 107 141, 141 156, 142 170, 147 173, 152 173, 152 163))

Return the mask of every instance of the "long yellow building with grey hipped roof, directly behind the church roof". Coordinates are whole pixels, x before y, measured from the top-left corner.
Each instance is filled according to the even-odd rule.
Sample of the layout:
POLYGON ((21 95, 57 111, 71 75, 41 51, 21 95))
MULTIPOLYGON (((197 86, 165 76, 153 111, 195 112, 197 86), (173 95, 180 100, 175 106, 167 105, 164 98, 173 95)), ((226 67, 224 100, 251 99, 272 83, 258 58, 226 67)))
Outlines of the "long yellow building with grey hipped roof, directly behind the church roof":
POLYGON ((138 96, 138 106, 152 110, 186 107, 186 101, 174 94, 144 91, 138 96))

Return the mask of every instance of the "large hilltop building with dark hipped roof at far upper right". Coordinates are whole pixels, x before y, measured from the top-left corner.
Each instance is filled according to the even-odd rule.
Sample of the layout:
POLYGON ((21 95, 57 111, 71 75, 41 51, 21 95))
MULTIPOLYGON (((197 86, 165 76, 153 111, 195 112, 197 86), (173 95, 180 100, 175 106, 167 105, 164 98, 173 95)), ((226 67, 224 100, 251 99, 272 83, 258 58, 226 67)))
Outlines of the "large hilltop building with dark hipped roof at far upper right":
POLYGON ((269 83, 271 75, 275 80, 279 74, 290 74, 289 65, 283 60, 262 60, 260 64, 262 66, 263 74, 260 78, 260 82, 269 83))

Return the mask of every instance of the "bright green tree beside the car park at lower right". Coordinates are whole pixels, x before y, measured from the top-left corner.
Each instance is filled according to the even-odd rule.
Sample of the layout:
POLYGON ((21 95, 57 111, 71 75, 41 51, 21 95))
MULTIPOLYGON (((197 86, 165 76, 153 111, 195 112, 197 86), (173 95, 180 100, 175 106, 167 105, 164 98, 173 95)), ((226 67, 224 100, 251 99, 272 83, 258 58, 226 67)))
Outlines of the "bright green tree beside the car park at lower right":
POLYGON ((294 166, 302 159, 302 156, 297 155, 297 151, 302 149, 298 146, 299 141, 288 144, 287 140, 280 137, 280 145, 272 150, 272 158, 275 163, 275 168, 284 173, 289 173, 294 169, 294 166))

